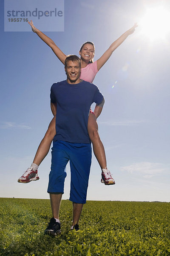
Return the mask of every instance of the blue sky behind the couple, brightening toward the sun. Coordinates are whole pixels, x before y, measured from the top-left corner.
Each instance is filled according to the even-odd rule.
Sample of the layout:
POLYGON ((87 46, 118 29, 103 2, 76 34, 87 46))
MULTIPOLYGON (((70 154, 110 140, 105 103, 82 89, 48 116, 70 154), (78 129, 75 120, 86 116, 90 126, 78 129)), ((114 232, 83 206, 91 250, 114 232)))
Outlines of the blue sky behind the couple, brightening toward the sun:
MULTIPOLYGON (((170 10, 168 1, 149 3, 170 10)), ((147 5, 146 0, 65 0, 64 32, 46 34, 65 54, 78 55, 82 43, 93 41, 97 60, 139 22, 147 5)), ((31 28, 4 32, 3 10, 0 1, 0 197, 49 198, 51 153, 39 167, 39 181, 17 179, 32 163, 52 119, 50 88, 65 79, 65 71, 31 28)), ((94 83, 105 96, 99 134, 116 184, 100 183, 93 156, 88 200, 170 201, 169 42, 170 34, 151 41, 139 26, 96 75, 94 83)), ((63 199, 69 198, 69 166, 67 172, 63 199)))

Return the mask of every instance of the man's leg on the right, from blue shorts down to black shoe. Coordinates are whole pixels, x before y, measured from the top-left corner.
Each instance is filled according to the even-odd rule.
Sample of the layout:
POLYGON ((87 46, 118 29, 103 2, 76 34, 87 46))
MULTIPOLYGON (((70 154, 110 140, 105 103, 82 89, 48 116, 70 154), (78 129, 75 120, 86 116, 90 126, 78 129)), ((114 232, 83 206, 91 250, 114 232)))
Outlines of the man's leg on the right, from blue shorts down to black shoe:
POLYGON ((74 143, 71 145, 71 191, 73 202, 73 223, 71 229, 79 230, 79 218, 86 202, 88 178, 91 166, 91 144, 74 143))

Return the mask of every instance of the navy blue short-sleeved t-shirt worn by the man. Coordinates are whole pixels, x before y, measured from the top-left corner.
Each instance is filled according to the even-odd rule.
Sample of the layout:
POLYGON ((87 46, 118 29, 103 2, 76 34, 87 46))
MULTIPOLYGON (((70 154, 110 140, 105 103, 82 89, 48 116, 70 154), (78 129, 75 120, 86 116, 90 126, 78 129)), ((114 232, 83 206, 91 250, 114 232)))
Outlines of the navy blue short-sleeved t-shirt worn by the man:
POLYGON ((51 86, 51 102, 57 102, 54 141, 91 143, 88 136, 88 115, 91 104, 100 104, 102 93, 95 84, 82 81, 68 84, 61 81, 51 86))

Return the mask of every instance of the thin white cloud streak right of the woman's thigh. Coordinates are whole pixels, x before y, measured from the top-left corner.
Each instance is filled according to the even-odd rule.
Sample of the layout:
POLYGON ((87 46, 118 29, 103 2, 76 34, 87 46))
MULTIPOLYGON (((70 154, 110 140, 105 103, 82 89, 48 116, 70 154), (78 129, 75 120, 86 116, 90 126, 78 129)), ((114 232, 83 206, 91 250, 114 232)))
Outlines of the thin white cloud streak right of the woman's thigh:
POLYGON ((140 125, 146 122, 146 120, 122 120, 122 121, 99 121, 100 125, 109 125, 109 126, 131 126, 131 125, 140 125))

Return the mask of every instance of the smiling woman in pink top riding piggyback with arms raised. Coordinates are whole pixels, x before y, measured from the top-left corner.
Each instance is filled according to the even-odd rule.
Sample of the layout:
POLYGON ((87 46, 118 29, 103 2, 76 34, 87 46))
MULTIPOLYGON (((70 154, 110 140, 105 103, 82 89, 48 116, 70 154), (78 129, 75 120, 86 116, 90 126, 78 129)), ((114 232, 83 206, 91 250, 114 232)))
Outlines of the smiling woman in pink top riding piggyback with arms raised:
MULTIPOLYGON (((33 25, 32 20, 31 22, 28 21, 28 23, 30 24, 32 31, 35 32, 42 39, 42 41, 44 41, 49 47, 51 47, 51 49, 53 50, 57 58, 59 58, 59 60, 64 64, 66 55, 59 49, 59 47, 57 47, 54 41, 52 41, 51 38, 48 38, 48 36, 46 36, 39 29, 37 29, 33 25)), ((135 31, 136 27, 137 27, 137 24, 135 23, 132 28, 127 30, 116 41, 114 41, 111 44, 111 46, 104 52, 104 54, 95 62, 93 62, 94 51, 95 51, 94 44, 92 42, 85 42, 79 50, 79 55, 81 60, 80 79, 83 79, 88 82, 93 82, 96 76, 96 73, 101 69, 101 67, 106 63, 106 61, 108 61, 113 51, 117 47, 119 47, 120 44, 122 44, 122 42, 127 38, 128 35, 132 34, 135 31)), ((54 113, 55 111, 52 110, 52 112, 54 113)), ((115 184, 115 181, 111 177, 111 173, 106 167, 107 164, 106 164, 106 157, 105 157, 105 149, 103 147, 103 144, 98 134, 98 125, 96 122, 97 117, 98 116, 95 116, 95 114, 92 111, 90 111, 89 118, 88 118, 88 134, 93 144, 94 154, 102 169, 101 182, 105 183, 105 185, 111 185, 111 184, 115 184)), ((56 116, 54 116, 54 118, 50 122, 50 125, 48 126, 48 130, 45 134, 45 137, 42 139, 37 149, 37 153, 34 157, 33 163, 31 164, 30 168, 28 168, 26 172, 18 179, 18 182, 28 183, 31 180, 39 180, 37 169, 40 163, 42 162, 42 160, 48 154, 48 151, 51 146, 51 142, 56 134, 55 120, 56 120, 56 116)))

